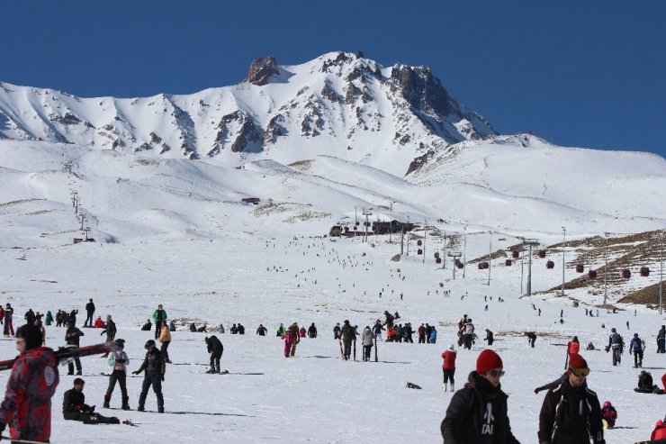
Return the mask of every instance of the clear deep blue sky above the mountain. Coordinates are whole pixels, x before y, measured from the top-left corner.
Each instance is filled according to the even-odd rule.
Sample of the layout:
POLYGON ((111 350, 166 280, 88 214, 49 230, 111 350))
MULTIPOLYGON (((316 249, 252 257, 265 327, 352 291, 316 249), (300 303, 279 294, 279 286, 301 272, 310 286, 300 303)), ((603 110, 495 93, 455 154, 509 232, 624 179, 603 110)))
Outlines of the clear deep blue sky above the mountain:
POLYGON ((34 1, 0 5, 0 81, 186 94, 362 50, 428 65, 500 133, 666 157, 666 2, 34 1))

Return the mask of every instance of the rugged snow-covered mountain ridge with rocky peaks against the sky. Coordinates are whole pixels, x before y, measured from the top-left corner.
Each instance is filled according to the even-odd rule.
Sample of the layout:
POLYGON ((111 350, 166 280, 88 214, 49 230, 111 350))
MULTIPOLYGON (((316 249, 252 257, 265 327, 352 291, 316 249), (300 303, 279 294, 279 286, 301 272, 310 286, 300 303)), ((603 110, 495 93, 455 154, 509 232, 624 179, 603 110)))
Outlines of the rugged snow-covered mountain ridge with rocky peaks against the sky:
POLYGON ((255 59, 238 85, 193 95, 80 98, 0 84, 0 138, 156 159, 284 163, 327 154, 403 176, 429 150, 495 134, 430 68, 331 52, 295 66, 255 59))

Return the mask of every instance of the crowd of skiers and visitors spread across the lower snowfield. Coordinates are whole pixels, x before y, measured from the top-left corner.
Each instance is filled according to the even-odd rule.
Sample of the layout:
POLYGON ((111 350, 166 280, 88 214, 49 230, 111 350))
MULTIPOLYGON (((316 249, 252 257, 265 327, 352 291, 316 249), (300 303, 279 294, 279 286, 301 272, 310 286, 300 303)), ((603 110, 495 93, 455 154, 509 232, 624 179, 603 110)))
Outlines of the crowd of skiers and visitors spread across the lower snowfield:
MULTIPOLYGON (((94 307, 90 307, 93 300, 90 299, 86 305, 86 319, 84 327, 95 326, 94 307)), ((50 312, 49 312, 50 313, 50 312)), ((7 384, 4 402, 0 405, 0 431, 7 424, 10 425, 14 439, 47 440, 50 433, 50 398, 58 386, 58 358, 52 349, 44 347, 44 327, 42 317, 49 319, 49 313, 40 315, 29 310, 25 314, 26 324, 15 332, 17 349, 20 356, 16 359, 7 384), (37 373, 34 369, 38 368, 37 373), (41 394, 39 397, 27 397, 20 399, 17 393, 20 391, 34 391, 37 387, 41 394), (39 398, 39 399, 38 399, 39 398), (25 403, 22 405, 22 403, 25 403), (28 414, 30 412, 39 414, 28 414), (23 416, 22 416, 23 415, 23 416)), ((80 346, 80 338, 85 332, 76 327, 77 310, 65 312, 58 310, 55 321, 64 325, 66 329, 65 340, 67 345, 73 348, 80 346), (58 321, 59 319, 59 321, 58 321)), ((12 320, 13 309, 10 304, 4 308, 4 325, 12 320), (9 318, 7 309, 9 308, 9 318)), ((384 312, 385 321, 377 320, 374 325, 366 325, 363 331, 358 331, 358 326, 352 325, 349 320, 337 323, 334 327, 334 338, 339 341, 340 354, 343 359, 350 360, 352 355, 356 359, 356 340, 360 338, 362 345, 362 358, 364 361, 371 360, 371 352, 376 340, 381 340, 382 332, 387 331, 387 340, 394 337, 389 331, 401 331, 395 341, 413 342, 410 322, 395 325, 395 320, 400 319, 399 313, 384 312)), ((101 317, 97 317, 101 320, 101 317)), ((160 304, 153 313, 151 320, 155 325, 155 340, 147 340, 144 348, 146 354, 141 365, 131 373, 139 375, 143 373, 143 383, 139 394, 137 410, 145 411, 148 391, 152 388, 157 399, 157 412, 165 412, 164 395, 162 394, 162 382, 165 380, 166 364, 170 363, 168 346, 171 342, 171 331, 175 331, 173 321, 169 321, 166 311, 160 304), (161 342, 161 348, 157 348, 157 340, 161 342)), ((152 323, 152 322, 151 322, 152 323)), ((127 372, 130 358, 124 351, 124 340, 115 339, 117 328, 112 316, 107 315, 105 322, 100 324, 105 335, 105 341, 109 349, 105 357, 112 368, 109 375, 108 387, 103 396, 103 407, 110 408, 112 394, 115 385, 121 390, 121 409, 130 410, 130 397, 127 391, 127 372)), ((234 323, 229 329, 231 334, 244 334, 245 328, 239 322, 234 323)), ((657 353, 662 353, 660 340, 663 340, 664 326, 658 332, 657 353)), ((220 331, 223 333, 224 331, 220 331)), ((10 333, 13 332, 10 329, 10 333)), ((267 329, 263 324, 257 327, 257 335, 266 336, 267 329)), ((428 323, 422 323, 416 333, 419 343, 436 343, 437 330, 428 323), (433 338, 433 332, 435 337, 433 338)), ((526 333, 530 345, 534 347, 536 334, 526 333)), ((276 336, 284 340, 284 357, 293 358, 296 355, 297 346, 303 338, 317 338, 318 331, 314 322, 308 329, 292 322, 288 327, 280 323, 276 330, 276 336)), ((475 339, 473 321, 466 314, 458 323, 458 345, 464 349, 471 349, 475 339)), ((488 345, 492 345, 493 333, 486 330, 488 345)), ((215 335, 204 339, 207 351, 210 354, 210 369, 207 373, 222 373, 220 371, 220 358, 224 347, 215 335)), ((591 344, 591 343, 590 343, 591 344)), ((628 349, 635 357, 635 367, 643 367, 645 342, 637 333, 633 335, 628 349)), ((590 345, 588 347, 590 349, 590 345)), ((592 349, 594 349, 592 347, 592 349)), ((621 363, 621 357, 625 349, 625 341, 613 328, 608 337, 608 352, 612 353, 612 364, 617 366, 621 363)), ((376 355, 375 355, 376 356, 376 355)), ((441 354, 443 359, 442 388, 445 391, 455 392, 454 397, 446 409, 446 417, 441 424, 442 436, 445 442, 518 442, 513 436, 509 425, 509 412, 507 411, 507 395, 501 390, 500 380, 504 376, 503 362, 496 351, 484 349, 478 356, 476 367, 467 377, 466 384, 462 389, 455 391, 455 344, 448 346, 441 354)), ((68 362, 67 375, 81 376, 81 362, 74 357, 68 362)), ((574 336, 567 344, 567 363, 564 374, 555 381, 537 387, 535 392, 546 390, 545 399, 539 413, 538 439, 542 443, 558 444, 568 442, 593 442, 600 444, 604 442, 604 428, 612 428, 617 421, 617 410, 606 401, 603 407, 599 404, 597 394, 590 390, 586 377, 590 373, 587 361, 581 356, 581 344, 578 336, 574 336), (563 406, 571 406, 564 408, 563 406), (586 406, 579 408, 578 406, 586 406), (588 424, 581 427, 581 424, 588 424)), ((662 384, 666 388, 666 375, 662 376, 662 384)), ((118 423, 116 417, 106 417, 95 412, 94 405, 85 403, 83 394, 85 381, 76 377, 73 387, 63 397, 63 417, 67 420, 82 421, 86 424, 95 423, 118 423)), ((663 390, 653 384, 650 372, 642 371, 638 376, 638 393, 662 394, 663 390)), ((656 430, 655 430, 656 431, 656 430)))

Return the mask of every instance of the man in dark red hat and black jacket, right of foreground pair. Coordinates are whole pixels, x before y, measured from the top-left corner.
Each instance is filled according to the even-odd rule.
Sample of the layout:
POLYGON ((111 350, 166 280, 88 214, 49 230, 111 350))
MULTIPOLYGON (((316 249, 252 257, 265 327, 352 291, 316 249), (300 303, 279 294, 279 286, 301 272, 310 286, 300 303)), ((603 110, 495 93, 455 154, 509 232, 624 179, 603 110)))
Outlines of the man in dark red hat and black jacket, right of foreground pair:
POLYGON ((581 355, 569 358, 566 379, 548 390, 539 413, 539 444, 605 444, 601 407, 587 385, 590 367, 581 355))

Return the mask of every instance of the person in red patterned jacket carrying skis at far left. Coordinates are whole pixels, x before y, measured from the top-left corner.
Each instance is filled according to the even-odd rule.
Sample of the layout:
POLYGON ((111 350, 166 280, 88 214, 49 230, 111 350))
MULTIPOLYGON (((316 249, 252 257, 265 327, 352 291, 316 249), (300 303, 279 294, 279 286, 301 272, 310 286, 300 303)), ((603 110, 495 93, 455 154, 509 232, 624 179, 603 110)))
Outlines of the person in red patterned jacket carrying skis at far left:
POLYGON ((40 329, 33 324, 16 331, 14 361, 0 404, 0 433, 9 424, 12 439, 49 442, 51 397, 58 386, 58 362, 52 349, 41 347, 40 329))

